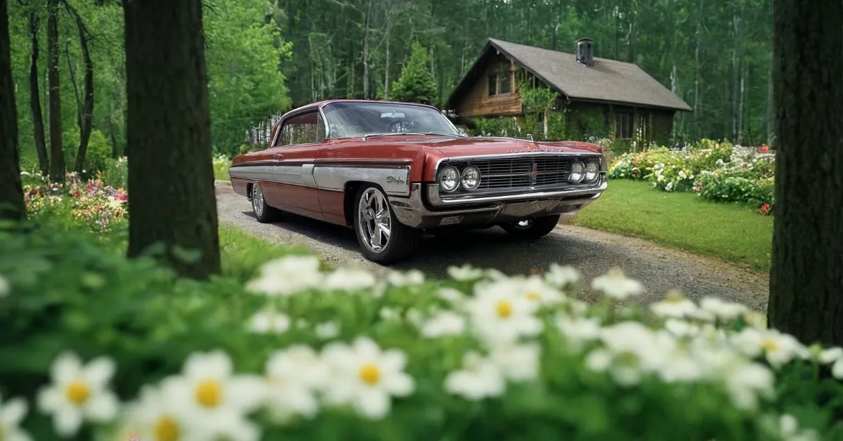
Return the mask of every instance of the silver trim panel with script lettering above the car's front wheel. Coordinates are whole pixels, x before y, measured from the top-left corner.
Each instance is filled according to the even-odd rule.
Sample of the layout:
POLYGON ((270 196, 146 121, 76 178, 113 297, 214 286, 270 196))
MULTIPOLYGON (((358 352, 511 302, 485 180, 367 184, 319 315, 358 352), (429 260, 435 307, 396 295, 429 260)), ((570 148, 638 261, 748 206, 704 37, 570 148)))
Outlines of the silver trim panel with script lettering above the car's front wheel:
POLYGON ((410 194, 409 166, 346 167, 318 165, 313 170, 314 183, 320 190, 343 191, 346 183, 354 180, 372 182, 393 196, 410 194))

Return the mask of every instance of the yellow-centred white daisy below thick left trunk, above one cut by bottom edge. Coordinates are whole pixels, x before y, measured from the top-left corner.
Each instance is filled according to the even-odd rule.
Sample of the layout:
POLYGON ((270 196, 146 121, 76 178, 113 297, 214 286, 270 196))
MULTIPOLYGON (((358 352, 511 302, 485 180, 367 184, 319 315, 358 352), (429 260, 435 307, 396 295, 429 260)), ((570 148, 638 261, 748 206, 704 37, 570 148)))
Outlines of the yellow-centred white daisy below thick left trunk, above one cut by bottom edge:
POLYGON ((191 353, 182 373, 166 382, 173 388, 172 401, 208 421, 228 412, 239 416, 253 411, 264 399, 260 378, 234 374, 231 358, 220 350, 191 353))

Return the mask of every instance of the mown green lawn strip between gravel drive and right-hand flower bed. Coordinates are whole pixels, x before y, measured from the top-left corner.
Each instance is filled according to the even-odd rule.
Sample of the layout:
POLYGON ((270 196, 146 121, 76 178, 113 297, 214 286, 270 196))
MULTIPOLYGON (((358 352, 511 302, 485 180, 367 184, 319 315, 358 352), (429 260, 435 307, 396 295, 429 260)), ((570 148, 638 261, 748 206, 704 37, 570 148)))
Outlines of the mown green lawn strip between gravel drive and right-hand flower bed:
POLYGON ((649 239, 659 245, 770 269, 773 218, 744 204, 703 201, 695 193, 668 193, 649 183, 611 180, 576 225, 649 239))

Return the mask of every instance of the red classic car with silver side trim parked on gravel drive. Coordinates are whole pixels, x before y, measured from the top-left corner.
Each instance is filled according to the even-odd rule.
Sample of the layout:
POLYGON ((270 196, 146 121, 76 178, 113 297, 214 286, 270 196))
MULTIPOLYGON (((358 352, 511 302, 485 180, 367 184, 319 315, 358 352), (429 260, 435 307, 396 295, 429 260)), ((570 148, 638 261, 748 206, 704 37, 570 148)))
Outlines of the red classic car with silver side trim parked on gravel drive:
POLYGON ((259 222, 293 212, 352 227, 388 264, 424 230, 500 225, 538 238, 606 189, 599 146, 468 137, 430 105, 332 99, 291 110, 269 148, 234 158, 259 222))

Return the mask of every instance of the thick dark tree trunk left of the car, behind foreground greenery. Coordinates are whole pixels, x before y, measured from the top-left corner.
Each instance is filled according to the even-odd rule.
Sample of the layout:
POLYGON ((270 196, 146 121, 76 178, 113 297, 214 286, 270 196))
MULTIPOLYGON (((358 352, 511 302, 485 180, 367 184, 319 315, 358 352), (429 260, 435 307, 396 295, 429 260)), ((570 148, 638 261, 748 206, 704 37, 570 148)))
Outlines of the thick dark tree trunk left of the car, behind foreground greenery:
POLYGON ((124 0, 129 249, 186 277, 219 272, 201 0, 124 0), (199 255, 185 255, 185 251, 199 255))

